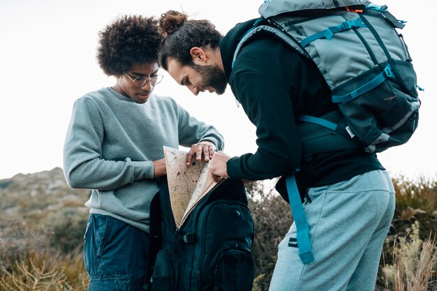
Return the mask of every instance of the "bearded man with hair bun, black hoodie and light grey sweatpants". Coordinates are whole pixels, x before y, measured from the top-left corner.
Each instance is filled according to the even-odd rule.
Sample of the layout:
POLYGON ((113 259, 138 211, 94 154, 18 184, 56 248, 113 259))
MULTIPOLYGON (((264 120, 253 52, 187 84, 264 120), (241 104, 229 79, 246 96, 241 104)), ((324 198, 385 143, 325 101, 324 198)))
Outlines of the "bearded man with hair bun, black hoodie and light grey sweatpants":
POLYGON ((292 223, 279 244, 269 290, 373 290, 394 213, 394 188, 376 154, 348 149, 302 155, 295 117, 336 110, 316 64, 267 33, 253 36, 232 64, 255 19, 225 36, 208 20, 188 20, 174 10, 159 23, 165 37, 161 66, 171 77, 194 95, 223 94, 229 84, 256 126, 255 153, 230 157, 218 151, 209 162, 212 173, 249 181, 281 177, 276 189, 288 200, 285 177, 299 169, 295 177, 315 259, 300 260, 292 223))

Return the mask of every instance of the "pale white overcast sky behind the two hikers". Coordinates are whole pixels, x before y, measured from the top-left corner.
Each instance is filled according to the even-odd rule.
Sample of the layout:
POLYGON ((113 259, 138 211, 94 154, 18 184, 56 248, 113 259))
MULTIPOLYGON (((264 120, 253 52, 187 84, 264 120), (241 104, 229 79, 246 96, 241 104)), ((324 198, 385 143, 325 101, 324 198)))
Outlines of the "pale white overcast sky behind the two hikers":
MULTIPOLYGON (((0 179, 62 167, 62 149, 73 103, 89 91, 115 84, 96 62, 98 31, 125 14, 159 17, 184 10, 208 19, 221 33, 258 17, 262 0, 0 0, 0 179)), ((422 107, 407 144, 378 154, 392 175, 437 177, 436 57, 431 45, 431 0, 378 0, 398 19, 413 58, 422 107), (427 33, 427 30, 429 33, 427 33), (431 50, 433 50, 431 52, 431 50)), ((193 96, 164 70, 155 94, 172 96, 194 117, 214 125, 225 137, 225 152, 255 152, 255 127, 232 91, 193 96)))

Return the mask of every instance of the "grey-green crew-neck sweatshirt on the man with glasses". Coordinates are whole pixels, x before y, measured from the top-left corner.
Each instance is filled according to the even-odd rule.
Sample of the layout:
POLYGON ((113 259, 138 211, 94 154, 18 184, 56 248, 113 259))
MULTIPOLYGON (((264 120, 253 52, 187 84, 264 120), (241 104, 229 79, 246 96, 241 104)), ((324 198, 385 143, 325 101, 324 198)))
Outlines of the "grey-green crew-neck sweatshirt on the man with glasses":
POLYGON ((91 214, 112 216, 149 232, 149 204, 158 191, 154 165, 163 146, 202 140, 223 149, 223 137, 170 97, 139 104, 103 88, 75 101, 64 144, 64 174, 71 188, 92 189, 91 214))

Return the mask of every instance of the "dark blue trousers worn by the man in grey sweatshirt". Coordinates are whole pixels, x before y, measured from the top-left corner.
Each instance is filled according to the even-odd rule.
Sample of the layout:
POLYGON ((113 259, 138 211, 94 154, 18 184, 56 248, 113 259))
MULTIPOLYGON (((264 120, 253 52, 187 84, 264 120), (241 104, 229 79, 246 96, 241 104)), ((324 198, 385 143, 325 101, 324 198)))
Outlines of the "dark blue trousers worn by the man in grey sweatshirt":
POLYGON ((91 214, 84 261, 89 291, 138 291, 145 284, 149 234, 111 216, 91 214))

